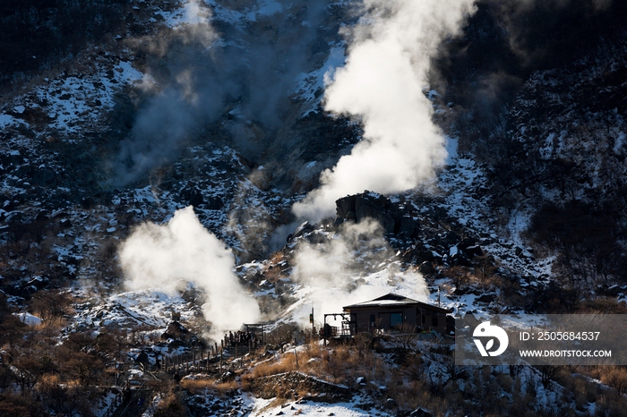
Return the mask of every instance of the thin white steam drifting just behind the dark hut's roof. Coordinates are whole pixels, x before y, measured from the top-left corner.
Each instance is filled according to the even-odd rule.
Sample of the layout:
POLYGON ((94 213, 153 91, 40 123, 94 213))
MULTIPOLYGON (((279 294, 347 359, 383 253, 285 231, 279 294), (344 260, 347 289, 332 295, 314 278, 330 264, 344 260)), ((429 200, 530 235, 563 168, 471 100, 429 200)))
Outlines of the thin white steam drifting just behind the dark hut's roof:
POLYGON ((291 277, 304 285, 297 294, 300 302, 288 311, 296 322, 306 327, 312 307, 322 321, 322 313, 391 292, 426 301, 425 279, 416 271, 400 270, 382 236, 382 227, 365 219, 342 224, 324 244, 300 243, 291 277))

